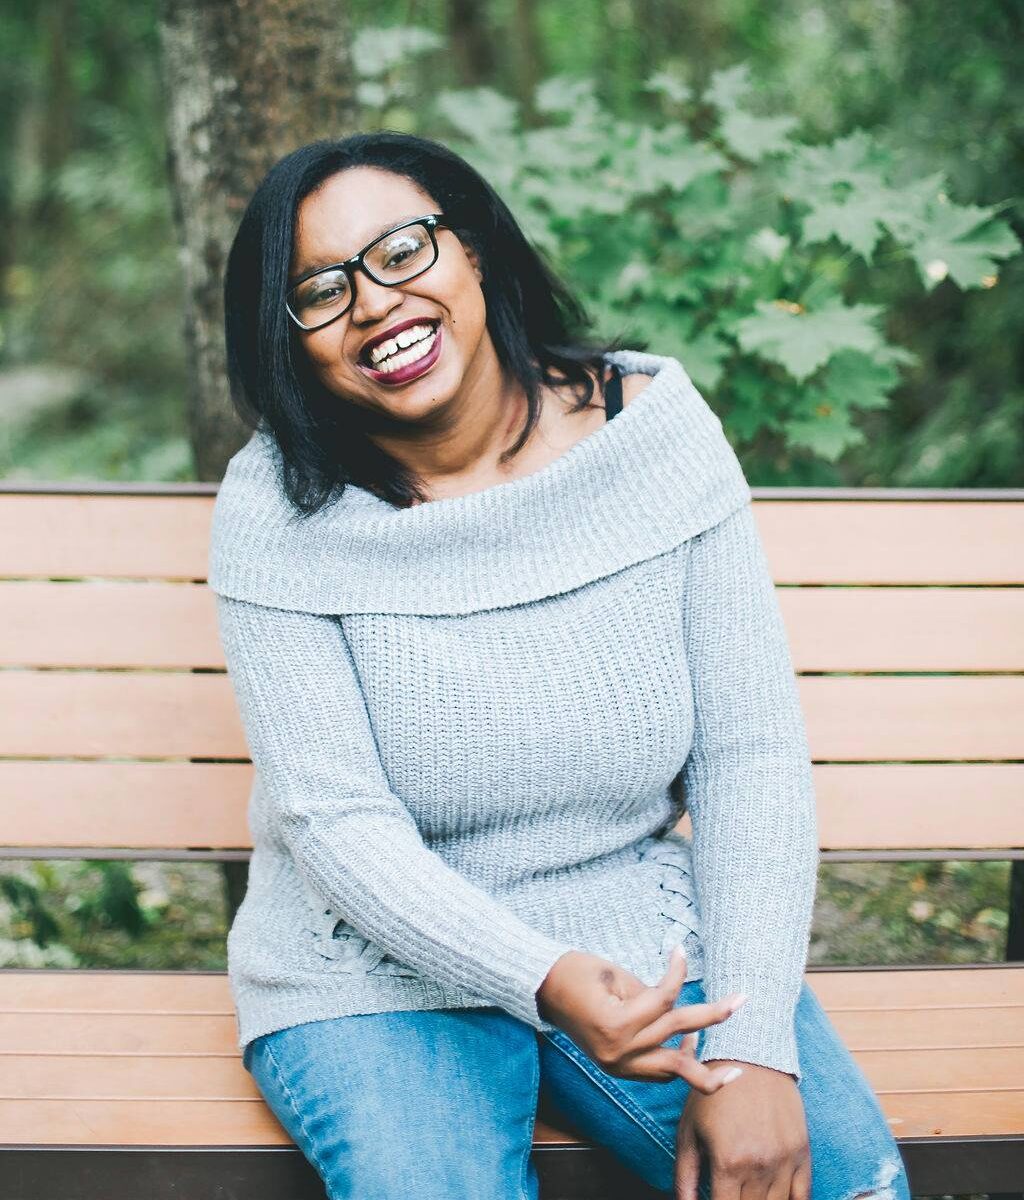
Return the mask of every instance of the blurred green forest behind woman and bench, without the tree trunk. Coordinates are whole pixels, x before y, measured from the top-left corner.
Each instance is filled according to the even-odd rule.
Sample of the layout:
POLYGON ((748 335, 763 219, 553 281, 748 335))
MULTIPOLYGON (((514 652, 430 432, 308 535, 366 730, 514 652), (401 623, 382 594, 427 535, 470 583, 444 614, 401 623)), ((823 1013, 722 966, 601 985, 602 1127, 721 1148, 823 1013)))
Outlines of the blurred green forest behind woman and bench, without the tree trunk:
MULTIPOLYGON (((1019 2, 315 7, 312 115, 469 157, 603 334, 683 360, 753 485, 1024 484, 1019 2)), ((240 444, 203 342, 217 254, 204 290, 175 221, 230 229, 247 198, 190 202, 193 97, 168 37, 187 8, 0 0, 8 481, 217 479, 240 444)), ((283 34, 259 50, 268 79, 293 53, 301 65, 283 34)), ((216 169, 238 148, 202 154, 216 169)), ((824 865, 812 961, 1000 960, 1008 877, 1006 863, 824 865)), ((224 878, 6 863, 0 965, 222 968, 224 878)))

